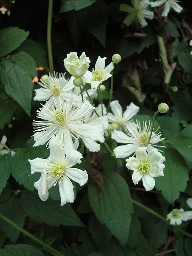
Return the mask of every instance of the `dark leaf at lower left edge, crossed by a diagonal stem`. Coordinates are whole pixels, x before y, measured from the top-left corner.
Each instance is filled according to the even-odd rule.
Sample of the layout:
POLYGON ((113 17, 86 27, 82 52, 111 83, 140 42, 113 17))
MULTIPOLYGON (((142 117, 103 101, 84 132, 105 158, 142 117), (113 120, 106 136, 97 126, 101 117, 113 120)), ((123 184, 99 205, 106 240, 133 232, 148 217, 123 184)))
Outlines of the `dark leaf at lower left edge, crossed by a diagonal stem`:
MULTIPOLYGON (((25 215, 20 207, 20 200, 18 198, 12 197, 5 203, 1 203, 0 212, 20 227, 24 226, 25 215)), ((20 231, 12 227, 12 225, 4 221, 2 218, 0 218, 0 229, 6 233, 13 243, 17 241, 20 231)))

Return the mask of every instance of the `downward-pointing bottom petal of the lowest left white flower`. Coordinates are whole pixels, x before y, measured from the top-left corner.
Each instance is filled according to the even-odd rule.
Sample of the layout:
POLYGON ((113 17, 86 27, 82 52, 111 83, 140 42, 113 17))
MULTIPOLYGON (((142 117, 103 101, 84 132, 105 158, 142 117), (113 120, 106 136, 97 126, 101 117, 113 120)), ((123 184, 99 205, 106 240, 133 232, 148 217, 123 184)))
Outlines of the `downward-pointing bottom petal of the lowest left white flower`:
POLYGON ((64 175, 64 178, 61 179, 61 182, 58 184, 59 194, 61 197, 61 206, 66 203, 73 203, 75 200, 75 194, 73 191, 73 184, 67 175, 64 175))

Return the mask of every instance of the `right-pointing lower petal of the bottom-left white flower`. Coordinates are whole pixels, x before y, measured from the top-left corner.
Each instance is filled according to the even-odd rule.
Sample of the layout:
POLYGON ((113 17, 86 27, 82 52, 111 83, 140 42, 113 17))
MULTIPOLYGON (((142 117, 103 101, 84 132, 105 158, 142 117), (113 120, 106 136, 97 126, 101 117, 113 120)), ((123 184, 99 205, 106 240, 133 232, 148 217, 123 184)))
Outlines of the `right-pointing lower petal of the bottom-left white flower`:
POLYGON ((65 170, 65 174, 71 180, 74 180, 75 182, 79 183, 80 186, 83 186, 88 180, 87 172, 82 171, 81 169, 78 168, 68 168, 65 170))

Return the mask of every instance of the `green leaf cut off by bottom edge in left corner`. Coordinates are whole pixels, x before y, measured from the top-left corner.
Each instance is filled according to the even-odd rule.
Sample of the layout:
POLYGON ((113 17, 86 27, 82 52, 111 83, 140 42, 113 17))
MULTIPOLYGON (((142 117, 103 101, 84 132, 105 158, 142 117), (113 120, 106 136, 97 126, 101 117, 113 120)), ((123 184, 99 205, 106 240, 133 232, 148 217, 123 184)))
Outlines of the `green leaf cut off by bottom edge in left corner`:
POLYGON ((0 249, 0 256, 44 256, 38 248, 29 244, 6 245, 5 249, 0 249))

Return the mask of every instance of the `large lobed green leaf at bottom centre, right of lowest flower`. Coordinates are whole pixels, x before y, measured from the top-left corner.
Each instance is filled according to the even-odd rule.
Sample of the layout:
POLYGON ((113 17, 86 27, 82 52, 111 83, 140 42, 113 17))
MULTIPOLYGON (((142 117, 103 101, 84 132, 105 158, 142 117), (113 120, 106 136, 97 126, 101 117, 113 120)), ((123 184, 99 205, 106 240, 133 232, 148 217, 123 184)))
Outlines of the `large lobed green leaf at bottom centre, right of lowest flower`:
POLYGON ((97 218, 125 245, 128 240, 133 206, 128 184, 116 172, 103 172, 104 193, 100 199, 98 186, 90 182, 88 197, 97 218))

